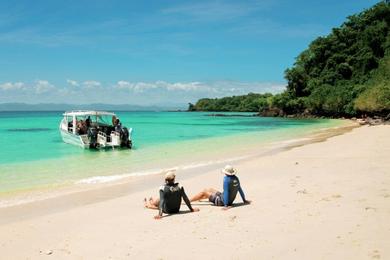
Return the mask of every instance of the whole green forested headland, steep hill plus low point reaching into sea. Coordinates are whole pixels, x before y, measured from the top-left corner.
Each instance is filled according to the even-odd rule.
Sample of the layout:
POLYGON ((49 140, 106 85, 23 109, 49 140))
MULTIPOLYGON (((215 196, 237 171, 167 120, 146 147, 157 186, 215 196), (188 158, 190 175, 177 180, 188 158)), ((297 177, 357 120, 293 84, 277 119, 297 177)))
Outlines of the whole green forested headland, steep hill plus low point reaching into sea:
POLYGON ((203 98, 188 111, 245 111, 264 116, 390 117, 390 3, 348 17, 310 43, 285 71, 286 90, 203 98))

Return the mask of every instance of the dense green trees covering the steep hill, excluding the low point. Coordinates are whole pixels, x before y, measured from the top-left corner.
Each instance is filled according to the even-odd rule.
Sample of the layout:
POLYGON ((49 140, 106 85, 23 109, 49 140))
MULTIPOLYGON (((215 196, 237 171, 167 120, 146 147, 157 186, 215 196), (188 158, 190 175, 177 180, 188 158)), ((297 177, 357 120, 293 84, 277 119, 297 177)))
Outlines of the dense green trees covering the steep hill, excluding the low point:
MULTIPOLYGON (((303 98, 305 104, 302 107, 301 102, 296 102, 295 109, 290 107, 289 110, 303 112, 306 109, 316 115, 352 116, 368 108, 370 112, 389 109, 383 102, 381 105, 368 104, 380 100, 366 100, 374 92, 386 91, 379 85, 373 88, 369 82, 378 81, 374 79, 379 76, 376 73, 378 66, 390 55, 389 25, 390 5, 380 2, 348 17, 328 36, 314 40, 297 57, 294 66, 285 72, 289 96, 297 100, 303 98)), ((389 65, 384 63, 382 70, 389 73, 389 65)), ((381 86, 386 84, 381 82, 381 86)), ((386 97, 385 94, 382 96, 386 97)), ((289 100, 288 103, 294 102, 289 100)))

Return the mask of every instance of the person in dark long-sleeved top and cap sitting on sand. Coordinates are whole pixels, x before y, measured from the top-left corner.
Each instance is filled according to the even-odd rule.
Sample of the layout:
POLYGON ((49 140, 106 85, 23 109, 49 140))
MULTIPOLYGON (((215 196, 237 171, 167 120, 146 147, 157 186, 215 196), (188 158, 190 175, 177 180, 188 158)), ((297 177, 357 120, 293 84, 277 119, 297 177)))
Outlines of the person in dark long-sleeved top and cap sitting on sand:
POLYGON ((160 198, 149 198, 149 200, 145 198, 146 208, 159 210, 158 215, 154 217, 155 219, 160 219, 163 213, 178 213, 182 198, 191 212, 199 211, 197 208, 192 208, 184 188, 179 183, 175 183, 175 178, 176 175, 173 171, 167 172, 165 174, 165 184, 160 187, 160 198))

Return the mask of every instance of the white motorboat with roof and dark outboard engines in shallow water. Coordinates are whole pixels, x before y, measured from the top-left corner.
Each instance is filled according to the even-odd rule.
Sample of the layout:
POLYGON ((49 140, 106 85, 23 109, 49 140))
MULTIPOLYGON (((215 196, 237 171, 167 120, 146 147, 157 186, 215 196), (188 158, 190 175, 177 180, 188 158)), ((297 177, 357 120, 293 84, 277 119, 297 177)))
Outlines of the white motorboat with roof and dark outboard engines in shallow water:
POLYGON ((65 143, 82 148, 132 147, 132 128, 122 127, 114 113, 70 111, 63 114, 60 133, 65 143))

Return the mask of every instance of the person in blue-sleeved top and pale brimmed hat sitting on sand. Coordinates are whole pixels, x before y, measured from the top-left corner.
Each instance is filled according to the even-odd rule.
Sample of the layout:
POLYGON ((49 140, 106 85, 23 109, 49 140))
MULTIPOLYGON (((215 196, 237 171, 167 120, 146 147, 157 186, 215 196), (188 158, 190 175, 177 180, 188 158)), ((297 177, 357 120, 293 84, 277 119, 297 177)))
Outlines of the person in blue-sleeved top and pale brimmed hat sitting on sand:
POLYGON ((226 165, 225 168, 222 169, 222 173, 225 174, 223 178, 222 193, 214 188, 208 188, 196 194, 194 197, 191 198, 190 201, 193 202, 202 199, 208 199, 215 206, 224 206, 223 209, 229 209, 236 198, 237 192, 239 192, 242 201, 245 204, 250 204, 251 201, 245 198, 244 191, 242 190, 240 185, 240 180, 236 176, 236 169, 234 169, 230 165, 226 165))

